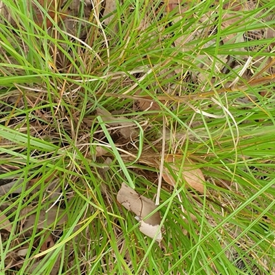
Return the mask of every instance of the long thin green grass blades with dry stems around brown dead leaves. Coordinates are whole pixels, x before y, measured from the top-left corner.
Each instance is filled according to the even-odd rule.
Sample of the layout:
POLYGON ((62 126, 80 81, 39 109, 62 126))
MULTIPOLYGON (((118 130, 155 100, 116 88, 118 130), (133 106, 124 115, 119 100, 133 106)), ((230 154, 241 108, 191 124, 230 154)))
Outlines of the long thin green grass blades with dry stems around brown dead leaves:
POLYGON ((0 183, 17 184, 0 199, 12 225, 0 274, 275 274, 275 39, 253 36, 274 28, 272 1, 236 12, 189 1, 181 15, 124 1, 78 19, 84 39, 80 24, 50 33, 3 2, 17 24, 0 23, 0 183), (164 154, 206 181, 204 194, 162 182, 157 243, 116 194, 126 182, 155 201, 164 154))

